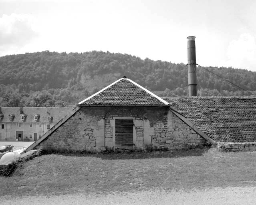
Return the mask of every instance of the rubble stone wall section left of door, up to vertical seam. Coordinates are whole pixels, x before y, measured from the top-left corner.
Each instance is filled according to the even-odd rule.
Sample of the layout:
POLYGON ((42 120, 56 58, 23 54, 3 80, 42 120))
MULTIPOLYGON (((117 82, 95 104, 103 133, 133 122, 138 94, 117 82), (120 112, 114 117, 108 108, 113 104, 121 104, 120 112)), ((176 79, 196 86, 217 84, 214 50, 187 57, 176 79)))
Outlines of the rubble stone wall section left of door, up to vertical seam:
POLYGON ((101 151, 104 146, 104 113, 80 109, 39 146, 54 151, 101 151))

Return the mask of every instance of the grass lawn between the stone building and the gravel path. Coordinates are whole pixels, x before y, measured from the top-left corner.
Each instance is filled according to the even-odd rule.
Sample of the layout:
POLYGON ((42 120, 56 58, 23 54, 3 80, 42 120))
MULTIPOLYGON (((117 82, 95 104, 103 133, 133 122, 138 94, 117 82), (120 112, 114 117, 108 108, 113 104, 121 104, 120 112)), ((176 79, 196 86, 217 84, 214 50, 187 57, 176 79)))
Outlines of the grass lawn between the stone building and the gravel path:
POLYGON ((256 186, 256 152, 42 155, 0 182, 0 196, 256 186))

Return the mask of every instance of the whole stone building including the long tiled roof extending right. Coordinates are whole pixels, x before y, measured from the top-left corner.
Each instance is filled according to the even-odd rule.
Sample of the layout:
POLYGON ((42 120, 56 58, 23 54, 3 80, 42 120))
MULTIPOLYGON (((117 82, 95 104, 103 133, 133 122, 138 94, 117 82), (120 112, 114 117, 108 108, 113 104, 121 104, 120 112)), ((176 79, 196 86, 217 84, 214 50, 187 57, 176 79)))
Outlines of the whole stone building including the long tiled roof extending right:
POLYGON ((160 98, 123 77, 78 106, 27 150, 186 149, 256 142, 256 97, 160 98))

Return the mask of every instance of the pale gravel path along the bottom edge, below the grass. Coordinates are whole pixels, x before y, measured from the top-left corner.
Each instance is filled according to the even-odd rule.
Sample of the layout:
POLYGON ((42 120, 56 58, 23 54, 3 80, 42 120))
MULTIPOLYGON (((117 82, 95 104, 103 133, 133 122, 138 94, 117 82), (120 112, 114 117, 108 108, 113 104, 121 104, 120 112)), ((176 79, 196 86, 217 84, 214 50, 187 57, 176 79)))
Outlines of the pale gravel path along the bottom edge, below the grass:
MULTIPOLYGON (((1 197, 0 197, 1 199, 1 197)), ((1 199, 3 204, 12 205, 255 205, 256 187, 228 187, 190 192, 171 191, 144 191, 139 193, 122 193, 111 195, 95 195, 86 197, 82 194, 22 197, 10 199, 7 196, 1 199)))

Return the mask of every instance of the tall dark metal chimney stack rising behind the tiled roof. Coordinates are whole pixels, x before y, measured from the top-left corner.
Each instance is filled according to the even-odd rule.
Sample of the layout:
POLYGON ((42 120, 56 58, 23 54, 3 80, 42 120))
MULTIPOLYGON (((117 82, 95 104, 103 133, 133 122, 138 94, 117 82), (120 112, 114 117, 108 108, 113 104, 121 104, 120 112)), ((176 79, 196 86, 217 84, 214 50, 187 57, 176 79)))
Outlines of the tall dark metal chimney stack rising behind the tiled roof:
POLYGON ((195 36, 187 37, 188 96, 197 96, 196 90, 196 42, 195 36))

